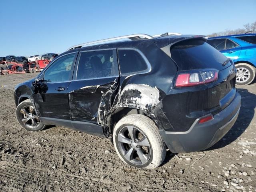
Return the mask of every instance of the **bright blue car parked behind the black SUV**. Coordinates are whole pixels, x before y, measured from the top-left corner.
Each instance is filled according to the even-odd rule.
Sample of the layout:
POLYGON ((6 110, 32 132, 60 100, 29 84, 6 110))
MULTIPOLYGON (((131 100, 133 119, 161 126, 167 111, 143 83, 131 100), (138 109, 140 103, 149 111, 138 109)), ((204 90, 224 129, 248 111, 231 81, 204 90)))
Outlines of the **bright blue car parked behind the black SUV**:
POLYGON ((248 85, 256 73, 256 34, 239 34, 208 38, 207 43, 233 60, 236 84, 248 85))

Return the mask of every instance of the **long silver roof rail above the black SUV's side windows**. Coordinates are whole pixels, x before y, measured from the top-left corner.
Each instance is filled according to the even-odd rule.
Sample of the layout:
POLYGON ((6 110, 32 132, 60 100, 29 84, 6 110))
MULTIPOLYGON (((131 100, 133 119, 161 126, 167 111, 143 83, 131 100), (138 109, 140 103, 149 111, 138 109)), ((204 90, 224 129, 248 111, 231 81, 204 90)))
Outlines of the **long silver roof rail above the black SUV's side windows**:
MULTIPOLYGON (((147 35, 147 34, 133 34, 133 35, 125 35, 125 36, 119 36, 119 37, 114 37, 114 38, 109 38, 109 39, 102 39, 102 40, 97 40, 97 41, 92 41, 92 42, 87 42, 87 43, 82 43, 82 44, 78 44, 78 45, 74 45, 70 48, 68 48, 68 50, 71 49, 75 49, 75 48, 81 48, 82 46, 85 45, 90 45, 90 44, 96 44, 96 43, 102 43, 102 42, 106 42, 106 41, 112 41, 112 40, 118 40, 118 39, 131 39, 131 40, 137 40, 137 39, 152 39, 154 37, 147 35)), ((66 51, 68 51, 66 50, 66 51)))

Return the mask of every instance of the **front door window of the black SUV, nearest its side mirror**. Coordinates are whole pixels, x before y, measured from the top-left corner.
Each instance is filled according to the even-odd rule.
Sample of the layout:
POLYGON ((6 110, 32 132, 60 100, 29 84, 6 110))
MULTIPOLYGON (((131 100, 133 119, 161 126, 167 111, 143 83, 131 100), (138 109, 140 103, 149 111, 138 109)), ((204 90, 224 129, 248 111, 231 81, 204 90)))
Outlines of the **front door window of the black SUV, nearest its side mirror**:
POLYGON ((44 72, 44 80, 47 82, 68 81, 75 53, 62 56, 53 62, 44 72))

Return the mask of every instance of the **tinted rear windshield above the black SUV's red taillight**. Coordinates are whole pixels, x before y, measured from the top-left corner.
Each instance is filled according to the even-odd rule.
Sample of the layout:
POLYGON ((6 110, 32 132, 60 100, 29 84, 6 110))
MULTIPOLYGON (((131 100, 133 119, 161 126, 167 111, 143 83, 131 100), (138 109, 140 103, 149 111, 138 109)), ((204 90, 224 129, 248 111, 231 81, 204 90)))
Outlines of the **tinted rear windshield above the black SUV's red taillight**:
MULTIPOLYGON (((171 56, 178 65, 178 70, 215 68, 222 70, 227 58, 204 40, 191 39, 174 44, 171 56)), ((227 67, 227 66, 226 66, 227 67)))

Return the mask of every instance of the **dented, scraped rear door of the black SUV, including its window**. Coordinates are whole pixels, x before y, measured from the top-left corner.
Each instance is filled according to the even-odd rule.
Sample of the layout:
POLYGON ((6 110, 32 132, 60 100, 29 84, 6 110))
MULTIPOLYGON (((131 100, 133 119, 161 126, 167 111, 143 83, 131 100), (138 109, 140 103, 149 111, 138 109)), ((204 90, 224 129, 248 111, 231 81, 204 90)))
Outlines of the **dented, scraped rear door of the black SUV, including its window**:
MULTIPOLYGON (((98 124, 98 118, 100 122, 108 115, 118 88, 116 49, 80 52, 77 61, 68 87, 71 118, 98 124)), ((76 126, 80 125, 74 124, 79 129, 76 126)))

